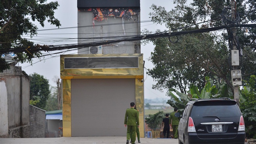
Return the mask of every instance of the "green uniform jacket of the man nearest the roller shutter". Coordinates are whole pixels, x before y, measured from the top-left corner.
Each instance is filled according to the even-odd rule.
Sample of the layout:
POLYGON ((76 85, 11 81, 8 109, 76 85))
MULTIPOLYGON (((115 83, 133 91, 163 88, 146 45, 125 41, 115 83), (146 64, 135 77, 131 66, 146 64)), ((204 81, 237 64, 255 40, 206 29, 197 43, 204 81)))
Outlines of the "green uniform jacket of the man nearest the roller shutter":
POLYGON ((139 125, 139 113, 133 107, 126 109, 124 124, 128 126, 136 126, 139 125))

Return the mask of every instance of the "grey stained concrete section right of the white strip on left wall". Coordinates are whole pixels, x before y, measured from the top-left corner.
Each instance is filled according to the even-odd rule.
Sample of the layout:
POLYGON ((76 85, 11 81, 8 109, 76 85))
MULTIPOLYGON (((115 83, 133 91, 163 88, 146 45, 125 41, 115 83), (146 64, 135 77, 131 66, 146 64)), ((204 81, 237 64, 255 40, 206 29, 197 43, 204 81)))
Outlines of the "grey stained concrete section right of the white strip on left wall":
POLYGON ((11 66, 3 72, 8 98, 9 129, 28 124, 30 79, 21 71, 21 67, 11 66))

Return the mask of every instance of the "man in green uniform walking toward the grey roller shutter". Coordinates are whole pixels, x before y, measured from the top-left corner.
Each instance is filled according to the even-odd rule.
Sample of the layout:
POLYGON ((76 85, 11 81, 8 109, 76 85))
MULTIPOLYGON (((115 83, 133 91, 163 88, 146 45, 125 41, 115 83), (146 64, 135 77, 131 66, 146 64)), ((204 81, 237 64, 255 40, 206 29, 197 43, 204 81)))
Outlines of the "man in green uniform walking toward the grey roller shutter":
POLYGON ((127 127, 126 133, 126 144, 129 144, 129 139, 131 135, 131 142, 135 144, 136 140, 136 125, 139 127, 139 113, 134 109, 135 103, 130 103, 130 108, 126 109, 125 118, 124 118, 124 126, 127 127), (137 122, 137 123, 136 123, 137 122))

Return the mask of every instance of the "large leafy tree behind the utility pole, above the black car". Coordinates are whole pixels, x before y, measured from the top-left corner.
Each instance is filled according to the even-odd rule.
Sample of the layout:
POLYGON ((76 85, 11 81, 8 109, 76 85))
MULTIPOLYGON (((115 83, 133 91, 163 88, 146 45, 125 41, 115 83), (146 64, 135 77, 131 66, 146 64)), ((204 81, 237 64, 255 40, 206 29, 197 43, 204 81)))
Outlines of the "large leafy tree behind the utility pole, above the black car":
MULTIPOLYGON (((224 8, 229 7, 229 1, 194 0, 190 5, 186 5, 186 0, 174 0, 175 8, 166 11, 164 7, 152 5, 154 12, 150 13, 152 21, 158 24, 165 24, 173 31, 189 31, 223 25, 231 25, 229 22, 223 23, 223 19, 229 18, 230 13, 224 8), (223 13, 223 15, 221 15, 223 13), (208 21, 211 19, 210 21, 208 21), (203 24, 200 22, 206 21, 203 24)), ((226 8, 228 9, 228 8, 226 8)), ((236 1, 236 11, 240 13, 240 24, 253 23, 256 21, 254 1, 236 1), (246 5, 248 7, 246 7, 246 5), (248 9, 246 9, 248 8, 248 9)), ((232 20, 229 20, 233 22, 232 20)), ((230 26, 231 27, 231 26, 230 26)), ((155 45, 154 52, 151 53, 150 60, 154 68, 147 72, 156 81, 153 88, 162 90, 163 88, 178 88, 182 93, 186 93, 190 84, 194 83, 200 90, 204 87, 204 77, 217 79, 214 84, 224 81, 233 90, 231 84, 231 62, 230 50, 232 49, 232 35, 230 29, 218 32, 205 32, 197 34, 187 34, 177 37, 151 39, 155 45), (228 32, 228 34, 226 34, 228 32)), ((250 74, 255 74, 256 67, 256 43, 255 27, 237 29, 237 39, 240 43, 235 43, 240 56, 240 65, 243 79, 248 80, 250 74), (245 31, 249 30, 247 34, 245 31), (242 55, 240 53, 240 55, 242 55)))

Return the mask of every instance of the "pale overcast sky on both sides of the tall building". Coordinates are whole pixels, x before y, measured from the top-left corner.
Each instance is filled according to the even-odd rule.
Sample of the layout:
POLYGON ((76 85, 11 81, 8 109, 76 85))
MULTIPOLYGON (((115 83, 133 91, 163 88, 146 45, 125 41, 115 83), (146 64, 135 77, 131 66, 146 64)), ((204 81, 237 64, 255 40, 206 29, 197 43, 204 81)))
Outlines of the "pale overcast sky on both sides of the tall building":
MULTIPOLYGON (((48 0, 47 2, 51 2, 53 0, 48 0)), ((56 1, 56 0, 54 0, 56 1)), ((59 19, 61 26, 60 28, 65 27, 77 27, 77 0, 58 0, 59 7, 55 10, 55 18, 59 19)), ((141 21, 150 20, 149 12, 152 12, 150 9, 151 5, 155 4, 157 6, 165 7, 167 11, 170 11, 171 8, 174 8, 173 0, 140 0, 140 19, 141 21)), ((59 42, 55 38, 77 38, 77 28, 69 28, 69 29, 56 29, 57 27, 50 25, 47 21, 45 22, 45 27, 41 27, 38 22, 34 22, 34 24, 38 27, 38 35, 37 37, 33 37, 35 44, 47 44, 47 45, 59 45, 59 44, 71 44, 77 43, 77 40, 70 40, 64 43, 59 42), (47 30, 47 29, 56 29, 56 30, 47 30), (40 39, 40 40, 39 40, 40 39), (45 39, 45 41, 42 41, 45 39)), ((148 29, 149 31, 155 32, 157 29, 161 31, 168 30, 167 27, 160 24, 154 24, 152 22, 149 23, 141 23, 141 30, 148 29)), ((30 37, 27 37, 30 38, 30 37)), ((152 69, 154 66, 152 62, 148 59, 150 57, 150 53, 153 52, 154 45, 152 43, 142 44, 141 45, 141 53, 143 53, 143 59, 145 60, 145 68, 152 69)), ((51 52, 50 56, 45 56, 39 59, 33 59, 33 65, 31 66, 29 63, 18 63, 16 66, 21 66, 22 70, 25 71, 28 75, 33 74, 34 72, 43 75, 44 78, 49 80, 49 84, 52 86, 56 86, 54 82, 55 77, 60 78, 60 54, 53 54, 56 51, 51 52)), ((43 54, 49 54, 47 52, 43 54)), ((61 54, 77 54, 77 50, 61 53, 61 54)), ((144 69, 144 97, 145 99, 155 99, 160 98, 163 100, 168 100, 168 96, 166 96, 167 90, 160 92, 158 90, 152 89, 152 85, 156 84, 153 78, 146 74, 146 70, 144 69)))

